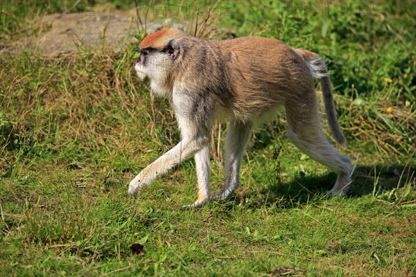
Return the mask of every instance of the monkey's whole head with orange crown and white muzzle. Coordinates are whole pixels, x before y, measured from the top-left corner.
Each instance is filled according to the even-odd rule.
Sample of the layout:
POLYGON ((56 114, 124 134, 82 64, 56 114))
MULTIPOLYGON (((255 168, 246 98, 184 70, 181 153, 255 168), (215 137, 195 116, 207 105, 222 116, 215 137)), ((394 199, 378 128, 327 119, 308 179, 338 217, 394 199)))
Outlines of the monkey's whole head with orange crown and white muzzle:
POLYGON ((152 82, 166 82, 181 54, 178 39, 184 36, 180 30, 165 29, 145 37, 136 48, 140 52, 135 65, 139 78, 148 76, 152 82))

